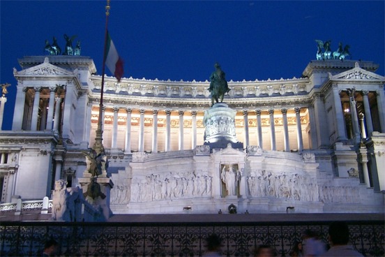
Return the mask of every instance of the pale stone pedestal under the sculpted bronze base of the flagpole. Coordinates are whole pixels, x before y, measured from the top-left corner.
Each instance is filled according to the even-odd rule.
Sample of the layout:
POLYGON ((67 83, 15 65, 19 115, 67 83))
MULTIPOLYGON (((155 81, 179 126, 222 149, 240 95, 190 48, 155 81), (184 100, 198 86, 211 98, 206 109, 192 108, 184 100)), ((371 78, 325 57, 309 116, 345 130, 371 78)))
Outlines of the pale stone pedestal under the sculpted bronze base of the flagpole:
POLYGON ((107 219, 112 216, 112 211, 110 209, 110 191, 114 186, 112 180, 109 177, 82 177, 79 178, 78 181, 82 186, 86 201, 93 205, 96 209, 100 209, 103 213, 104 220, 107 221, 107 219), (91 179, 94 179, 93 183, 97 183, 100 186, 100 191, 98 190, 99 192, 97 192, 98 196, 95 198, 91 198, 91 196, 89 196, 89 185, 91 184, 91 179), (105 198, 103 198, 103 196, 105 196, 105 198))

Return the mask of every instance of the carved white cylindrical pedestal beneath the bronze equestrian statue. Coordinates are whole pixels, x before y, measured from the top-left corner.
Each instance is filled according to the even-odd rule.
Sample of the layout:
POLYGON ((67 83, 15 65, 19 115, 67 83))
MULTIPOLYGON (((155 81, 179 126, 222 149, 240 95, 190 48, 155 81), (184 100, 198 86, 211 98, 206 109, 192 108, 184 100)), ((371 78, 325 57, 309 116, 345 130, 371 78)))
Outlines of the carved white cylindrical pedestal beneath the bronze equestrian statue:
POLYGON ((216 103, 204 112, 203 124, 204 145, 210 149, 226 148, 228 144, 232 148, 243 149, 243 142, 239 142, 235 135, 236 110, 232 110, 226 103, 216 103))

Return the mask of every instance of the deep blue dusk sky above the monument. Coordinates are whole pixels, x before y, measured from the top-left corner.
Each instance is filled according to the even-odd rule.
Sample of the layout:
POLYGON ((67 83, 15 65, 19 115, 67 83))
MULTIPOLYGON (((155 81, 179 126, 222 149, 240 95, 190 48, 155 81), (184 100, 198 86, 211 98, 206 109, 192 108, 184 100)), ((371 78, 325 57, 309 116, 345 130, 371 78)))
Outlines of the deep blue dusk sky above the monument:
MULTIPOLYGON (((45 40, 77 35, 82 56, 102 71, 106 1, 0 1, 1 73, 8 82, 3 130, 10 130, 17 59, 46 55, 45 40)), ((350 45, 352 59, 384 75, 385 1, 114 1, 109 31, 125 78, 209 79, 218 61, 227 80, 299 78, 316 39, 350 45)), ((107 75, 111 75, 106 70, 107 75)), ((209 101, 209 100, 208 100, 209 101)))

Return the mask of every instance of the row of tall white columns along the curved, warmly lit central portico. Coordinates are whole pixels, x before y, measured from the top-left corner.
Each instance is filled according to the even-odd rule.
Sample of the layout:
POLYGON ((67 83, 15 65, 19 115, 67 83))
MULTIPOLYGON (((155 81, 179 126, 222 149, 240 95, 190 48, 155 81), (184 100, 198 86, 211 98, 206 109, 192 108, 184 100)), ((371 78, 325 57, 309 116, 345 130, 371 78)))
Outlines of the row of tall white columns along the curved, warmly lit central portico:
MULTIPOLYGON (((116 107, 110 107, 107 108, 109 110, 112 109, 113 115, 112 115, 112 131, 111 131, 111 148, 116 149, 117 144, 116 144, 116 138, 118 137, 118 112, 119 108, 116 107)), ((126 110, 126 131, 125 131, 125 142, 124 142, 124 150, 126 153, 131 152, 131 143, 132 143, 132 124, 131 121, 133 119, 133 108, 120 108, 123 110, 126 110)), ((105 120, 105 110, 106 108, 103 108, 103 117, 102 119, 105 120)), ((261 148, 263 148, 263 137, 262 137, 262 112, 268 112, 269 113, 269 122, 266 122, 266 115, 265 120, 264 120, 264 126, 269 126, 269 134, 271 136, 270 142, 271 142, 271 150, 275 151, 277 150, 277 142, 276 142, 276 135, 275 135, 275 126, 277 126, 277 122, 275 122, 275 119, 277 117, 274 117, 274 114, 277 115, 279 114, 278 119, 281 119, 282 115, 282 128, 283 128, 283 140, 284 140, 284 151, 285 152, 290 152, 290 147, 289 147, 289 124, 287 122, 287 111, 288 108, 281 108, 280 110, 276 110, 273 108, 270 108, 268 110, 262 110, 262 109, 256 109, 256 110, 241 110, 239 114, 243 114, 243 135, 244 135, 244 142, 243 146, 248 147, 250 145, 250 128, 249 128, 249 119, 251 122, 251 119, 256 119, 256 131, 257 131, 257 145, 261 148), (278 113, 277 113, 278 112, 278 113), (280 112, 280 113, 279 113, 280 112), (255 115, 252 115, 255 114, 255 115)), ((297 149, 301 152, 303 150, 303 135, 302 135, 302 125, 301 125, 301 108, 293 108, 295 112, 295 124, 296 124, 296 138, 297 138, 297 149)), ((136 113, 139 112, 139 122, 138 122, 138 152, 145 152, 144 149, 144 119, 145 119, 145 112, 146 110, 144 108, 139 108, 135 110, 136 113)), ((148 110, 147 110, 148 111, 148 110)), ((158 115, 160 112, 162 115, 165 115, 165 124, 164 124, 164 151, 169 152, 171 150, 171 133, 172 133, 172 110, 158 110, 158 109, 153 109, 151 110, 153 115, 152 115, 152 141, 151 141, 151 152, 158 152, 158 137, 160 133, 158 133, 158 115)), ((179 126, 178 126, 178 150, 185 150, 185 149, 195 149, 197 146, 197 110, 174 110, 174 113, 177 112, 179 115, 179 126), (190 115, 190 128, 191 130, 188 130, 186 132, 186 128, 184 125, 186 119, 185 115, 190 115), (180 126, 180 124, 183 124, 180 126), (188 133, 191 133, 188 135, 188 133), (190 142, 191 145, 187 147, 186 145, 183 144, 183 142, 186 143, 185 141, 185 135, 188 135, 190 137, 190 142)), ((149 112, 146 112, 148 115, 149 112)), ((293 114, 293 112, 291 112, 293 114)), ((293 115, 292 115, 293 116, 293 115)), ((111 116, 110 116, 111 117, 111 116)), ((241 116, 238 116, 241 118, 241 116)), ((292 119, 294 119, 292 117, 292 119)), ((254 122, 255 123, 255 122, 254 122)), ((200 125, 200 124, 199 124, 200 125)), ((293 124, 292 124, 293 125, 293 124)), ((201 125, 202 126, 202 125, 201 125)), ((91 128, 90 128, 91 129, 91 128)), ((149 150, 149 149, 147 149, 149 150)), ((136 147, 135 147, 136 151, 136 147)))

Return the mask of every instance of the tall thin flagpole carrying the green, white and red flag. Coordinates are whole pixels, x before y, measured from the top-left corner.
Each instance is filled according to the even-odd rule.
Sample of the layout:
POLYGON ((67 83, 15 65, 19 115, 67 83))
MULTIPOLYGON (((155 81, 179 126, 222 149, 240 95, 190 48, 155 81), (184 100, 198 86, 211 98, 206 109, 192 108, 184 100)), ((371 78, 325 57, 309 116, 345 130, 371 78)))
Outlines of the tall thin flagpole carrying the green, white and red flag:
POLYGON ((98 129, 96 130, 95 144, 93 150, 96 154, 104 154, 105 149, 103 147, 103 91, 104 91, 104 78, 105 78, 105 51, 107 48, 107 25, 108 17, 110 16, 110 0, 107 0, 107 6, 105 6, 105 42, 103 47, 103 66, 102 66, 102 87, 100 88, 100 103, 99 103, 99 117, 98 117, 98 129))

